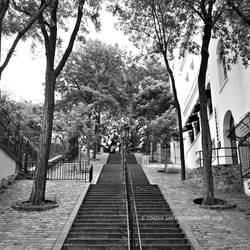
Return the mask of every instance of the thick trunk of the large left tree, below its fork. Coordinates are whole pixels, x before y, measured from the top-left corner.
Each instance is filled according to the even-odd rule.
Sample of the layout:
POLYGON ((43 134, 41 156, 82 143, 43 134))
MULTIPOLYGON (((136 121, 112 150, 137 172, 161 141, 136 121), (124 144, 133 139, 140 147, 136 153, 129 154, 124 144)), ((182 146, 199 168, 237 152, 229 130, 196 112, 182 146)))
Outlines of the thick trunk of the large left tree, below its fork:
POLYGON ((43 128, 36 167, 35 179, 29 201, 34 205, 42 204, 45 200, 46 173, 48 168, 53 114, 54 114, 54 90, 56 78, 53 71, 46 70, 45 100, 43 112, 43 128))

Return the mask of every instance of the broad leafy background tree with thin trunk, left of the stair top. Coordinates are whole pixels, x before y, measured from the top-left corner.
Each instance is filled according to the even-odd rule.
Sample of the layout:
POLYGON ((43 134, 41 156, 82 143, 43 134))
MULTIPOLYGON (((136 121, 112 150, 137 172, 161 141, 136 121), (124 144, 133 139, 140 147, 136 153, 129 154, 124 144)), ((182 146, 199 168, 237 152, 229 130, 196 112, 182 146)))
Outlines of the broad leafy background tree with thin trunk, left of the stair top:
POLYGON ((95 142, 93 158, 100 144, 101 113, 117 112, 127 103, 124 89, 123 52, 118 46, 88 40, 72 53, 58 81, 60 103, 85 102, 93 107, 95 142))

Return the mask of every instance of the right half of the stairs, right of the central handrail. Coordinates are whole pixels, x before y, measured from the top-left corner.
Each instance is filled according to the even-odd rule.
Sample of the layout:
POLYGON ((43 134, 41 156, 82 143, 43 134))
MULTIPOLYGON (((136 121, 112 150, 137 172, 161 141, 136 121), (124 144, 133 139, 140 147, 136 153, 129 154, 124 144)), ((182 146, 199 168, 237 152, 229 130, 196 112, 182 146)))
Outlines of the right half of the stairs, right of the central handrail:
MULTIPOLYGON (((134 155, 128 163, 136 162, 134 155)), ((128 164, 139 222, 142 249, 191 249, 157 185, 150 185, 142 167, 128 164)))

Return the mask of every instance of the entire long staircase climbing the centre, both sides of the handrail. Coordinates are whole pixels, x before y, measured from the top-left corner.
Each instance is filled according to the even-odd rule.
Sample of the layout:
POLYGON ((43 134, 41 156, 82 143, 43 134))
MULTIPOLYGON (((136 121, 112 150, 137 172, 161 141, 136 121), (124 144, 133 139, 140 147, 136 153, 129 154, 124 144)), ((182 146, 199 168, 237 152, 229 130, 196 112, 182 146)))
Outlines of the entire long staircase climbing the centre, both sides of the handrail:
MULTIPOLYGON (((129 249, 128 215, 119 155, 110 155, 96 185, 91 185, 62 249, 129 249)), ((137 223, 133 220, 130 249, 191 249, 157 185, 150 185, 133 155, 127 157, 135 198, 137 223)), ((132 195, 130 189, 129 195, 132 195)), ((135 218, 130 215, 130 218, 135 218)))

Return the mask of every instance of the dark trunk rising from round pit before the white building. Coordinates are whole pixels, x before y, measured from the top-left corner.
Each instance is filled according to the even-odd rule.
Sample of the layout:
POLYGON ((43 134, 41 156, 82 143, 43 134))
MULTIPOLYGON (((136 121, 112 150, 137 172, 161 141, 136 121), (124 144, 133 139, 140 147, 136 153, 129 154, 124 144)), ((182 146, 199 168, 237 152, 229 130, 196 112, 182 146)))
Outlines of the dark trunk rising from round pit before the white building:
POLYGON ((212 175, 212 141, 210 127, 207 116, 207 97, 206 97, 206 73, 209 58, 209 43, 211 40, 212 26, 205 24, 204 36, 201 48, 201 63, 198 76, 198 89, 200 97, 200 116, 201 116, 201 137, 202 137, 202 158, 203 158, 203 179, 204 194, 203 204, 212 205, 214 203, 214 186, 212 175))

